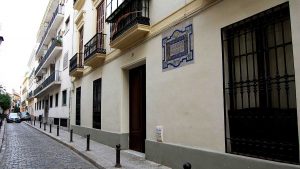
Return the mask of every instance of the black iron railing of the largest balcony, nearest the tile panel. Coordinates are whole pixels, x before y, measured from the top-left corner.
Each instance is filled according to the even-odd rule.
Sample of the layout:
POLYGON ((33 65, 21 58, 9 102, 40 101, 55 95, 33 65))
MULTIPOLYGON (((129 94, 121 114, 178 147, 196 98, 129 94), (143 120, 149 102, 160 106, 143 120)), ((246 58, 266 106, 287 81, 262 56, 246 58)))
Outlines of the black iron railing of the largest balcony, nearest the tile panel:
POLYGON ((107 19, 113 41, 136 24, 150 25, 149 0, 125 1, 107 19))

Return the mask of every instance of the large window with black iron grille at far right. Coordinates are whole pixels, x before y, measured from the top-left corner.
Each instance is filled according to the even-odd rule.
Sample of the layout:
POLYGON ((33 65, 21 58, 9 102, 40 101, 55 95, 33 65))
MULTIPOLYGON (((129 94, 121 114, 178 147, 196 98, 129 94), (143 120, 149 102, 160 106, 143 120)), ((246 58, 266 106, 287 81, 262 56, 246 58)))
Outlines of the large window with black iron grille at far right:
POLYGON ((222 29, 226 151, 299 163, 289 4, 222 29))

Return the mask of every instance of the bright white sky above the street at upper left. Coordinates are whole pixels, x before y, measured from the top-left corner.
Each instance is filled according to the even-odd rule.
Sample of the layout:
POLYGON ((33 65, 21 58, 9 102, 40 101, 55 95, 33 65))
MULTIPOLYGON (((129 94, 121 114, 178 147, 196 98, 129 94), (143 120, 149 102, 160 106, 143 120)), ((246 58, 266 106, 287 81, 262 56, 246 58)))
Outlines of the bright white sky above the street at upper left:
POLYGON ((20 93, 48 0, 0 0, 0 85, 20 93))

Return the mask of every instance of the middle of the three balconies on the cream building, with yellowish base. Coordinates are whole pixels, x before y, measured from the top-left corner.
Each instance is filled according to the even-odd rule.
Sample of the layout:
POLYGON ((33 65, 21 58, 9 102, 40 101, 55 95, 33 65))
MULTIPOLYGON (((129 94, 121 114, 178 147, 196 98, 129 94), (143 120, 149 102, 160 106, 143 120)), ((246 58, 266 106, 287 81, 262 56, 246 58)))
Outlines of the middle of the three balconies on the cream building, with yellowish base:
POLYGON ((97 33, 84 45, 84 65, 97 67, 103 64, 106 56, 105 37, 106 34, 97 33))

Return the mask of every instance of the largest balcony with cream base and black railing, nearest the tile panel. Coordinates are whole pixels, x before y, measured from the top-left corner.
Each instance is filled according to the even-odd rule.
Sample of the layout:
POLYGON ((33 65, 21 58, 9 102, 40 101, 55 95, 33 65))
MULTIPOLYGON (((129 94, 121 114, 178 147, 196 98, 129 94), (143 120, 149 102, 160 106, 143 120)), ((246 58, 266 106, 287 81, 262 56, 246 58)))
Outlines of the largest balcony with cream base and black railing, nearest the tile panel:
POLYGON ((131 47, 150 32, 149 0, 124 1, 106 21, 111 23, 110 46, 131 47))

